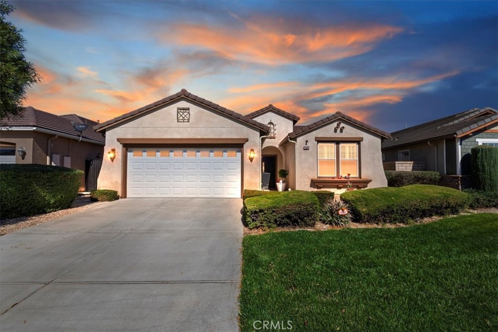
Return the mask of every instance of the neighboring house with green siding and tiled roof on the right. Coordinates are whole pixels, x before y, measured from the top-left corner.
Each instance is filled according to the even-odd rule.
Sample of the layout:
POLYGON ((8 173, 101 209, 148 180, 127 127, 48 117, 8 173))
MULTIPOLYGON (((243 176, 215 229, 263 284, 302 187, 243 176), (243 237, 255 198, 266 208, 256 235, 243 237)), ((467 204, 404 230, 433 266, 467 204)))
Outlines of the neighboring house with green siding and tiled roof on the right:
POLYGON ((393 162, 414 162, 441 175, 469 175, 471 149, 483 144, 498 146, 498 112, 492 108, 472 109, 395 131, 382 142, 382 160, 392 169, 393 162))

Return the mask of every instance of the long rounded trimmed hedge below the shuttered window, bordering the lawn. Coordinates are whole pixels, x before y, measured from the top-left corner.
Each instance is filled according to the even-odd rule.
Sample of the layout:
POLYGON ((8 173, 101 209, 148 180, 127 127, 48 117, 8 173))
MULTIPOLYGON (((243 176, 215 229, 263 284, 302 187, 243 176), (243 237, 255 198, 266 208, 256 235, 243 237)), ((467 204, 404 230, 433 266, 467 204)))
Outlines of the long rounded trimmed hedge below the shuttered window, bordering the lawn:
POLYGON ((357 222, 407 222, 436 215, 456 214, 472 201, 469 194, 432 185, 410 185, 355 190, 341 195, 357 222))

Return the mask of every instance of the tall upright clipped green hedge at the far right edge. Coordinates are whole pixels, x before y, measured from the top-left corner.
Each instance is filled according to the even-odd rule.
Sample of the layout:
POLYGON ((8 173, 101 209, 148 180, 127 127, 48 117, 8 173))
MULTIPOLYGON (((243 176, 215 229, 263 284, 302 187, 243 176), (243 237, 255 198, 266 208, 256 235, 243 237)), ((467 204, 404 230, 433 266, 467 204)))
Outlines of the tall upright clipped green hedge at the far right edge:
POLYGON ((477 190, 498 192, 498 147, 474 146, 472 154, 472 184, 477 190))

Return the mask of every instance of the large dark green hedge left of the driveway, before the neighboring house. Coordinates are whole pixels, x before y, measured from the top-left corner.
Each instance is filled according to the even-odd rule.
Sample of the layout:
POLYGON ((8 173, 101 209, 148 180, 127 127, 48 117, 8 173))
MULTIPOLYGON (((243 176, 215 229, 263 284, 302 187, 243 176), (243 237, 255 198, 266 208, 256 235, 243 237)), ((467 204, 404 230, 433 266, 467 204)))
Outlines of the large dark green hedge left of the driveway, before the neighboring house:
POLYGON ((0 165, 1 219, 67 209, 78 195, 83 172, 39 164, 0 165))

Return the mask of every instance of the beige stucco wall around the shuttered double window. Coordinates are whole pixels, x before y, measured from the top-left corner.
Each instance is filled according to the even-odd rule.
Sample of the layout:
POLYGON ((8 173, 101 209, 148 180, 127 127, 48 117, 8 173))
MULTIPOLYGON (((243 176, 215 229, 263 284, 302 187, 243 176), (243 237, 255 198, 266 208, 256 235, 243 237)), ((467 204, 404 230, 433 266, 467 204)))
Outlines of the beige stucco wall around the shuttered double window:
POLYGON ((297 138, 297 184, 295 189, 316 190, 311 183, 311 179, 318 175, 318 145, 315 137, 363 137, 363 141, 360 142, 361 177, 372 179, 368 188, 387 186, 380 153, 380 136, 344 119, 340 119, 340 121, 345 127, 342 133, 334 132, 337 121, 333 121, 297 138), (310 146, 309 150, 303 150, 306 140, 310 146))

